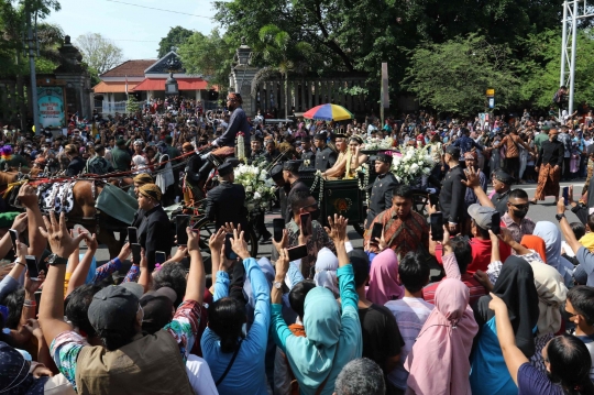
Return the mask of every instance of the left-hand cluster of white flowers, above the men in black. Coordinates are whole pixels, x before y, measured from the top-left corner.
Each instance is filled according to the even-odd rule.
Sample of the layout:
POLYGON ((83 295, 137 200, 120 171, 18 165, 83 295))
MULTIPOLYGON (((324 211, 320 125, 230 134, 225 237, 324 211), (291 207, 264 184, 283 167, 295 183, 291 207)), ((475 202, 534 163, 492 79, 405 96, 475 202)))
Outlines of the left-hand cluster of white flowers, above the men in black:
POLYGON ((265 165, 266 163, 261 166, 239 165, 234 172, 234 183, 245 188, 245 207, 250 213, 266 210, 275 198, 276 185, 268 176, 265 165))

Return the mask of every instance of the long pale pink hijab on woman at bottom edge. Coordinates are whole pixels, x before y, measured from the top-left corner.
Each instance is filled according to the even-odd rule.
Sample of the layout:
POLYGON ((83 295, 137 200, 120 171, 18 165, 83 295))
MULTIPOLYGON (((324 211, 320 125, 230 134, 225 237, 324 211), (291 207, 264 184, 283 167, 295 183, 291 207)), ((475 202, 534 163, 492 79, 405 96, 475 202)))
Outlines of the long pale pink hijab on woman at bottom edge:
POLYGON ((439 284, 436 308, 405 362, 410 372, 407 385, 417 395, 472 394, 469 358, 479 325, 469 300, 469 288, 460 279, 447 278, 439 284))

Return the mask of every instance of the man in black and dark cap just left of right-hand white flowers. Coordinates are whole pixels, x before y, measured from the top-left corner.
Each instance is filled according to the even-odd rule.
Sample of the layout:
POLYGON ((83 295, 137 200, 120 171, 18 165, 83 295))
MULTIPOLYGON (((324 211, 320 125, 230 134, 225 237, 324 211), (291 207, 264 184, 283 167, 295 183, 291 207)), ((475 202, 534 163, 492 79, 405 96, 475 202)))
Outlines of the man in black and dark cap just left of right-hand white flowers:
POLYGON ((375 173, 377 178, 371 187, 370 208, 367 209, 367 219, 365 229, 370 229, 371 223, 377 215, 392 207, 392 191, 398 185, 398 180, 389 172, 392 167, 392 155, 377 154, 375 157, 375 173))

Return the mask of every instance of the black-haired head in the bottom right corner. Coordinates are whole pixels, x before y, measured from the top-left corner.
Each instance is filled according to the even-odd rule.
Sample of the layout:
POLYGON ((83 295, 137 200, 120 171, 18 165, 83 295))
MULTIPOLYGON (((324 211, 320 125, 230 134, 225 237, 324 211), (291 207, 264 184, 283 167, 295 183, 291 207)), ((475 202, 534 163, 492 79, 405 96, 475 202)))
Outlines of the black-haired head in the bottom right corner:
POLYGON ((583 341, 571 334, 558 336, 549 342, 547 353, 551 381, 561 384, 565 395, 594 395, 592 358, 583 341))

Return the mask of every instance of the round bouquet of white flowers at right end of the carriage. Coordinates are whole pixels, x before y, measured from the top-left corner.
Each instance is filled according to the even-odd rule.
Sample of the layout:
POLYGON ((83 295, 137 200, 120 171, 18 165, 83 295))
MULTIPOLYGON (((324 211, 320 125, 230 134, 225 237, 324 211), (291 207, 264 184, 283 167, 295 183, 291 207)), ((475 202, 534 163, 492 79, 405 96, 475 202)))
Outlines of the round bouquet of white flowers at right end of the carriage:
POLYGON ((411 185, 431 174, 435 164, 427 147, 402 145, 400 154, 395 154, 392 161, 392 173, 398 183, 411 185))

